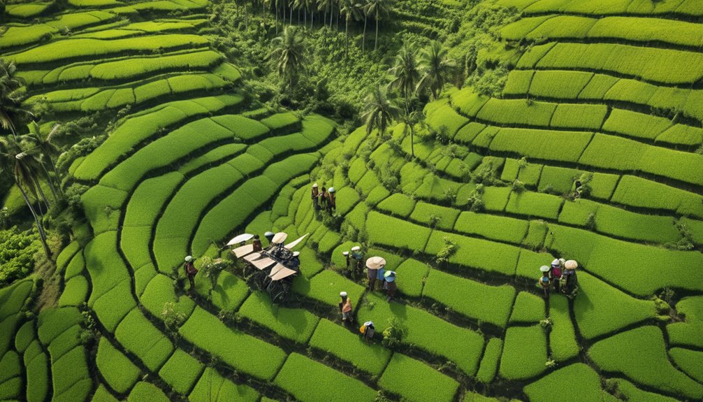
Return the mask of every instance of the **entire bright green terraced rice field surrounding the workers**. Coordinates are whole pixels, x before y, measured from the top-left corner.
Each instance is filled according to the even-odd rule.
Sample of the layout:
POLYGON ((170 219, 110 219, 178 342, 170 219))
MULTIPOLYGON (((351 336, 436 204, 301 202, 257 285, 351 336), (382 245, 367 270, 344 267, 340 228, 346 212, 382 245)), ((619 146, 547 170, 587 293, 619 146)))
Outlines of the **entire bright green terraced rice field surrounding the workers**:
POLYGON ((415 157, 402 124, 342 135, 252 110, 199 31, 205 2, 68 3, 8 6, 0 51, 56 119, 123 115, 71 166, 89 230, 56 261, 58 308, 25 313, 31 280, 0 290, 0 400, 703 399, 700 1, 496 1, 526 45, 503 97, 446 90, 415 157), (341 226, 314 213, 314 181, 341 226), (245 231, 309 233, 289 303, 238 269, 186 292, 183 257, 245 231), (344 275, 358 243, 400 301, 344 275), (555 257, 579 261, 573 301, 539 297, 555 257), (342 326, 341 291, 399 344, 342 326))

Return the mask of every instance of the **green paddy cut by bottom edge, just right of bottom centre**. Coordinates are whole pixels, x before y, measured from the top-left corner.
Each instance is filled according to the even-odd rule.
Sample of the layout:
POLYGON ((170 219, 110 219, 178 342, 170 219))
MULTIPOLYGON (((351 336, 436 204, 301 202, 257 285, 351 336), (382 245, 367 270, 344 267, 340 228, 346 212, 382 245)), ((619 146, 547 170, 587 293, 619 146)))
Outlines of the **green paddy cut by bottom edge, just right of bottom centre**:
POLYGON ((453 401, 459 388, 451 377, 408 356, 395 353, 378 384, 407 401, 453 401))

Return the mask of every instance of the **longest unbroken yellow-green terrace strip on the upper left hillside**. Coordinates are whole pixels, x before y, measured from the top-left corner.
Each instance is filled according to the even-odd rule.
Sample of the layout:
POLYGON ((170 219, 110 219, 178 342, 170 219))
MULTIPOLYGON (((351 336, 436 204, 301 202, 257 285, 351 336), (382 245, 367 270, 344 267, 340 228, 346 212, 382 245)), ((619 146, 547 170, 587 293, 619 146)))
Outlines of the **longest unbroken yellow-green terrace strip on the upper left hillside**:
POLYGON ((10 57, 18 65, 29 63, 51 63, 71 58, 147 53, 183 47, 207 46, 207 38, 199 35, 165 34, 149 37, 134 37, 110 41, 99 39, 64 39, 43 46, 30 48, 10 57))

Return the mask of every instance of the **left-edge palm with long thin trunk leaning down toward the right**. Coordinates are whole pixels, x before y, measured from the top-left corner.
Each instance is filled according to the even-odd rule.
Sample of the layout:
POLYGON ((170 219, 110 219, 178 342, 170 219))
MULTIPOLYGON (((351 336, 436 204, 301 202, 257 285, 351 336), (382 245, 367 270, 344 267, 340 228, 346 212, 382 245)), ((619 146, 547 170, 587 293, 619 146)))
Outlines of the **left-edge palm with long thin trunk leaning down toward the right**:
POLYGON ((27 153, 22 150, 22 147, 18 141, 14 138, 0 137, 0 172, 6 172, 11 175, 15 186, 22 193, 22 198, 25 199, 27 207, 30 207, 30 212, 34 217, 34 223, 37 225, 37 231, 39 232, 39 239, 41 244, 44 246, 44 252, 46 257, 51 259, 51 249, 49 245, 46 244, 46 233, 44 233, 44 226, 41 224, 41 219, 39 215, 34 210, 30 196, 27 194, 27 188, 38 199, 36 193, 36 183, 37 176, 30 163, 31 158, 27 158, 27 153))

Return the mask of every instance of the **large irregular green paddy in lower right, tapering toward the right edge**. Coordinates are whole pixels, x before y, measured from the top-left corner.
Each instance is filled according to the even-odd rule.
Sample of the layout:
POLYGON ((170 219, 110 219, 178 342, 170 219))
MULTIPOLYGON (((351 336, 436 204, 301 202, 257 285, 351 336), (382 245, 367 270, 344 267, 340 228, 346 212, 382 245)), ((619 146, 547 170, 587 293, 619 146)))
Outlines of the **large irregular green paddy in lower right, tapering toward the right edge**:
POLYGON ((588 355, 600 370, 622 373, 631 380, 666 393, 703 398, 703 385, 676 370, 669 362, 662 331, 657 327, 636 328, 604 339, 591 346, 588 355))

